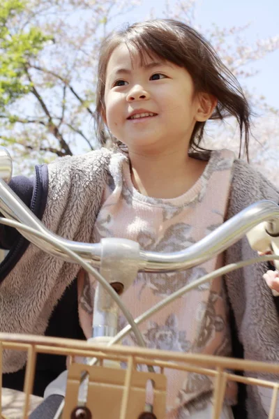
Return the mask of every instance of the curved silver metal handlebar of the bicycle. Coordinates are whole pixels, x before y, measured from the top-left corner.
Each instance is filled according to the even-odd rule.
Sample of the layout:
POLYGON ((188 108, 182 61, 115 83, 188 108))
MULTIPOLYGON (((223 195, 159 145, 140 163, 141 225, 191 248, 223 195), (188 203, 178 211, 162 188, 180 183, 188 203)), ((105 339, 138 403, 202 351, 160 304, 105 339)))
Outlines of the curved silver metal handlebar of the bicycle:
MULTIPOLYGON (((58 235, 47 230, 43 223, 29 210, 29 207, 22 203, 22 200, 6 184, 10 178, 12 163, 10 155, 1 147, 0 149, 0 211, 8 219, 13 219, 24 223, 43 233, 47 237, 52 237, 57 244, 63 244, 67 249, 74 251, 78 256, 89 262, 93 267, 100 267, 101 244, 80 243, 63 239, 58 235), (10 170, 10 174, 9 171, 10 170)), ((257 224, 266 223, 266 231, 272 236, 279 235, 279 207, 276 203, 269 200, 262 200, 259 203, 250 205, 216 228, 199 242, 191 245, 183 251, 173 253, 158 253, 154 251, 140 251, 139 272, 174 272, 186 270, 200 263, 205 262, 221 253, 229 246, 237 242, 243 235, 248 233, 257 224)), ((30 242, 36 244, 40 249, 53 256, 58 256, 70 262, 70 258, 61 249, 44 242, 38 237, 34 237, 26 231, 21 234, 30 242)))

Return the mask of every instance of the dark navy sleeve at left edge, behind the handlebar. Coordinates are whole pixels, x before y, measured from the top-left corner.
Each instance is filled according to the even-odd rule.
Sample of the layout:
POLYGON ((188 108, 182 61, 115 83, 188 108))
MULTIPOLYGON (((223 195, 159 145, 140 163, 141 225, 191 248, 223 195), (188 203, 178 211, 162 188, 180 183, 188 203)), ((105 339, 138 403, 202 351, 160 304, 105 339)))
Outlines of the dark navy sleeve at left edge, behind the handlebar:
MULTIPOLYGON (((34 179, 24 176, 16 176, 10 180, 10 189, 17 194, 17 196, 24 202, 27 207, 31 206, 31 199, 33 196, 34 179)), ((1 214, 2 216, 2 214, 1 214)), ((10 250, 17 240, 19 240, 20 233, 12 227, 0 224, 0 248, 10 250)))

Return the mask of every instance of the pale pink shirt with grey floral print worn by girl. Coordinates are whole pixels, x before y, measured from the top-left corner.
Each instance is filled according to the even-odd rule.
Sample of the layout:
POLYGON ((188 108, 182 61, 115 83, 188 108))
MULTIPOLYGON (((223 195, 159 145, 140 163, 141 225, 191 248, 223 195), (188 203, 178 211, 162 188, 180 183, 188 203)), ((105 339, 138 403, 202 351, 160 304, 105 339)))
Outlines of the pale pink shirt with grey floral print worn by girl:
MULTIPOLYGON (((103 194, 103 205, 94 227, 94 242, 102 237, 135 240, 149 251, 179 251, 198 242, 220 226, 225 217, 234 154, 228 150, 211 152, 201 177, 182 196, 158 199, 143 196, 133 186, 128 159, 111 163, 111 173, 103 194)), ((223 265, 223 256, 213 258, 186 272, 139 273, 123 302, 134 318, 182 286, 223 265)), ((91 336, 91 319, 80 307, 82 327, 91 336)), ((119 327, 126 321, 119 318, 119 327)), ((140 330, 149 348, 169 351, 230 355, 227 301, 222 278, 199 286, 162 309, 140 330)), ((133 335, 123 344, 135 345, 133 335)), ((168 408, 179 413, 180 406, 211 394, 211 379, 199 374, 166 370, 168 408), (201 397, 199 397, 201 396, 201 397)), ((234 403, 236 388, 227 390, 234 403)))

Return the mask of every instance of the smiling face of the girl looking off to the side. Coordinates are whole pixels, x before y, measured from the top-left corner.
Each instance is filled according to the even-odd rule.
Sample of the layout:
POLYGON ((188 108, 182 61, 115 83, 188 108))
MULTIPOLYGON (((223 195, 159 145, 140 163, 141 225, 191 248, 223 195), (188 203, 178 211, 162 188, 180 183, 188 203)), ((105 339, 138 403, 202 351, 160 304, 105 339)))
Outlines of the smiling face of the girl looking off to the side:
POLYGON ((169 61, 133 61, 125 44, 112 53, 105 80, 105 122, 112 135, 134 152, 188 149, 199 98, 185 68, 169 61))

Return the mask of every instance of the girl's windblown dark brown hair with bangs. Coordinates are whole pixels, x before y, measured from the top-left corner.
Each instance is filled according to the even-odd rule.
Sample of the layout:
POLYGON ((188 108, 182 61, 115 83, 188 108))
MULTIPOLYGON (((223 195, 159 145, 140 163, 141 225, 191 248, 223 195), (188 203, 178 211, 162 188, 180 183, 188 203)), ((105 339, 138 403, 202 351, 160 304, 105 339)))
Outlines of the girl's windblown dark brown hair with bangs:
MULTIPOLYGON (((234 116, 239 124, 239 156, 248 157, 250 133, 250 108, 239 82, 220 61, 213 47, 195 29, 176 20, 161 19, 135 23, 121 31, 112 32, 100 47, 98 84, 96 94, 96 134, 104 144, 105 112, 104 94, 107 63, 112 52, 121 43, 135 48, 142 61, 144 54, 159 57, 184 67, 193 78, 195 91, 206 92, 218 103, 210 119, 234 116), (244 136, 244 144, 243 144, 244 136)), ((189 149, 202 150, 200 146, 206 122, 196 122, 190 138, 189 149)))

